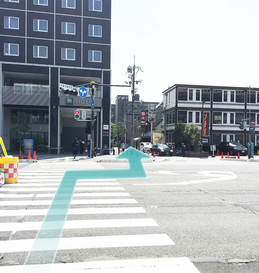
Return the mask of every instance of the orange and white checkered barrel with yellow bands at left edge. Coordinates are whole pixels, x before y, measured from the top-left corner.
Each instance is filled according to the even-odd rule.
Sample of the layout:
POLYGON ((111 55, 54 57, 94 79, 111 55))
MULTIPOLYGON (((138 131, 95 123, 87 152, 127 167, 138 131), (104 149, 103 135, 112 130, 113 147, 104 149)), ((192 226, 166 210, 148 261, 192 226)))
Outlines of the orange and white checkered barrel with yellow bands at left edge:
POLYGON ((0 170, 5 171, 5 184, 18 182, 18 157, 2 157, 0 170))

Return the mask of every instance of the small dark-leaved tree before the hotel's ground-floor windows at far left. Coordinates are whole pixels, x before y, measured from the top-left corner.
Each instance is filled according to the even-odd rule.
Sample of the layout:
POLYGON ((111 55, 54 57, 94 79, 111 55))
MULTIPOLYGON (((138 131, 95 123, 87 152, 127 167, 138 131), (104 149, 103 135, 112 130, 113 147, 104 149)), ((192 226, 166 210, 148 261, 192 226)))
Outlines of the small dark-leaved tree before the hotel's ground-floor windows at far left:
POLYGON ((21 137, 22 137, 22 134, 25 134, 31 130, 30 120, 28 119, 28 117, 26 116, 24 112, 20 112, 20 111, 12 114, 11 120, 12 120, 11 130, 18 132, 19 134, 20 151, 21 151, 21 148, 22 148, 21 137))

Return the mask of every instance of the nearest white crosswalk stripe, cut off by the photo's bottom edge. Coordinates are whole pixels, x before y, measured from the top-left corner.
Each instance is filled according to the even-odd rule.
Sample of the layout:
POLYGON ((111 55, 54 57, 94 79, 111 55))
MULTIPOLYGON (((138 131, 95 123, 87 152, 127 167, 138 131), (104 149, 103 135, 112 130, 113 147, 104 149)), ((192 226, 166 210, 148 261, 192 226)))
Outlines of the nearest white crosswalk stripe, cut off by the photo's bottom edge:
POLYGON ((105 260, 62 264, 32 264, 24 266, 1 266, 2 273, 22 272, 102 272, 102 273, 200 273, 187 257, 179 258, 148 258, 128 260, 105 260), (40 271, 39 271, 40 270, 40 271), (51 270, 51 271, 49 271, 51 270))

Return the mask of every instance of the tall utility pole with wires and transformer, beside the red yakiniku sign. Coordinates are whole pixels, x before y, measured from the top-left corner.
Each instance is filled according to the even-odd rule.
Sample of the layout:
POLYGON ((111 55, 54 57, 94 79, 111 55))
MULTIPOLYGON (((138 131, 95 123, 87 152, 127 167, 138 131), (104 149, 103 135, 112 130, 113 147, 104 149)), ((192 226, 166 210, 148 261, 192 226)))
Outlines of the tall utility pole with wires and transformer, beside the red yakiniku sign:
POLYGON ((136 69, 141 71, 141 67, 135 66, 135 55, 134 55, 134 65, 133 66, 128 66, 128 69, 127 69, 127 72, 131 73, 131 76, 129 76, 131 81, 125 82, 127 84, 132 85, 132 90, 131 90, 131 95, 132 95, 132 107, 131 107, 132 119, 131 119, 131 140, 130 140, 130 146, 131 147, 134 146, 134 118, 135 118, 134 117, 135 116, 134 101, 135 101, 135 95, 136 95, 136 91, 137 91, 137 89, 135 90, 135 82, 136 82, 136 84, 138 84, 139 82, 142 81, 142 80, 136 80, 135 81, 135 71, 136 71, 136 69))

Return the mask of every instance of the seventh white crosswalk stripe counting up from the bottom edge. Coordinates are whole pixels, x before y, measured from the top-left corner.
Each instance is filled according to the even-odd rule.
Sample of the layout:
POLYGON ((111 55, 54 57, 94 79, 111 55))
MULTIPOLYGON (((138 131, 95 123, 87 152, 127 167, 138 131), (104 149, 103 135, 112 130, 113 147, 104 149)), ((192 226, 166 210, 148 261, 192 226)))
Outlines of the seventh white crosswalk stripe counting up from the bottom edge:
MULTIPOLYGON (((2 188, 1 191, 9 191, 9 192, 20 192, 20 191, 56 191, 58 188, 2 188)), ((66 188, 62 188, 66 191, 66 188)), ((67 187, 67 189, 71 190, 71 187, 67 187)), ((125 191, 123 187, 76 187, 75 191, 125 191)))

